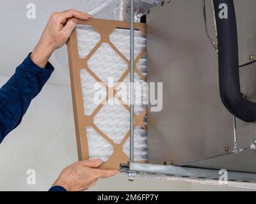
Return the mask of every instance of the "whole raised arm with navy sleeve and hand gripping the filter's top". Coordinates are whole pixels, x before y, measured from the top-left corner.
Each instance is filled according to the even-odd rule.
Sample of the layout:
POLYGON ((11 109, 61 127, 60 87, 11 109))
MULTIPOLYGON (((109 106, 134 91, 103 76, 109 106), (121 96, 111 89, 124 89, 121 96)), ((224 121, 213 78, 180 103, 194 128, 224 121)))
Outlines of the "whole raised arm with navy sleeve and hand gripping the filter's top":
POLYGON ((0 143, 19 125, 31 100, 51 76, 53 67, 48 61, 52 52, 67 42, 77 18, 88 20, 92 16, 75 10, 53 13, 31 56, 0 89, 0 143))

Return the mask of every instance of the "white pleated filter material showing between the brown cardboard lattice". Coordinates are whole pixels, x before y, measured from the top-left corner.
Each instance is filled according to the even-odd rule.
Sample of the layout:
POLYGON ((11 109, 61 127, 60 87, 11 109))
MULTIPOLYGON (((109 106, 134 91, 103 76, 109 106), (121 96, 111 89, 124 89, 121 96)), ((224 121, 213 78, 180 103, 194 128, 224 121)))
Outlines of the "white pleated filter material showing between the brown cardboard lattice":
MULTIPOLYGON (((90 25, 77 25, 77 47, 79 52, 79 57, 84 58, 88 55, 93 47, 97 45, 100 41, 100 34, 93 29, 90 25)), ((109 36, 110 41, 113 45, 124 54, 127 59, 129 59, 130 53, 130 44, 129 36, 130 31, 128 29, 115 29, 113 33, 109 36)), ((134 54, 137 57, 141 50, 146 46, 146 38, 141 34, 140 31, 135 31, 134 33, 134 54)), ((143 57, 138 61, 137 64, 138 70, 142 73, 143 76, 147 76, 147 55, 144 54, 143 57)), ((109 77, 113 78, 114 84, 120 80, 127 71, 128 64, 127 62, 120 57, 115 50, 108 44, 102 43, 100 47, 93 53, 92 57, 88 60, 88 68, 92 70, 97 77, 104 82, 104 84, 109 87, 109 77)), ((95 103, 93 98, 97 91, 95 89, 95 83, 97 80, 93 78, 90 73, 81 68, 81 87, 83 91, 83 101, 84 101, 84 114, 92 115, 95 111, 95 108, 99 106, 100 103, 95 103)), ((143 85, 145 83, 143 79, 135 73, 135 82, 141 84, 142 90, 141 94, 135 95, 135 100, 140 98, 141 104, 135 105, 135 113, 140 115, 145 110, 145 105, 143 101, 147 99, 147 87, 143 85)), ((129 85, 129 75, 124 79, 124 84, 129 85)), ((107 91, 106 87, 102 85, 102 100, 106 98, 107 91)), ((98 87, 99 89, 99 87, 98 87)), ((120 94, 120 91, 117 90, 116 93, 120 94)), ((119 95, 118 95, 119 96, 119 95)), ((124 95, 123 95, 124 96, 124 95)), ((126 100, 123 101, 128 105, 129 102, 129 90, 127 89, 126 100)), ((113 142, 121 143, 124 140, 125 135, 129 132, 129 110, 125 108, 117 99, 111 98, 112 103, 104 104, 100 108, 99 112, 93 118, 93 123, 97 128, 108 136, 113 142)), ((99 101, 98 101, 99 102, 99 101)), ((95 131, 92 127, 87 127, 86 136, 88 139, 88 148, 90 158, 100 158, 103 161, 107 161, 109 156, 113 153, 112 145, 106 141, 102 136, 95 131)), ((123 146, 124 153, 129 156, 129 138, 124 143, 123 146)), ((145 161, 147 160, 147 132, 142 127, 137 126, 134 129, 134 161, 145 161)))

